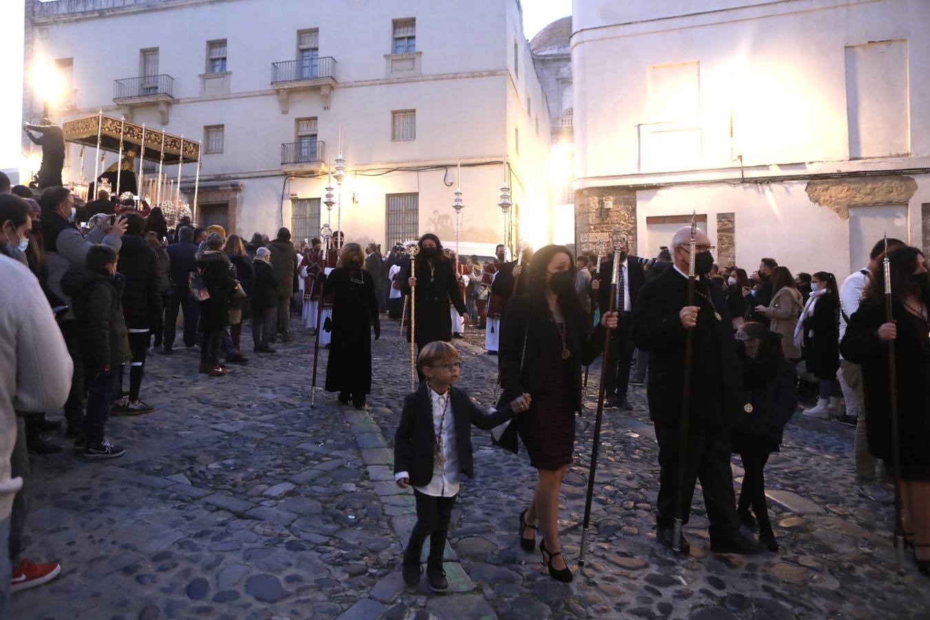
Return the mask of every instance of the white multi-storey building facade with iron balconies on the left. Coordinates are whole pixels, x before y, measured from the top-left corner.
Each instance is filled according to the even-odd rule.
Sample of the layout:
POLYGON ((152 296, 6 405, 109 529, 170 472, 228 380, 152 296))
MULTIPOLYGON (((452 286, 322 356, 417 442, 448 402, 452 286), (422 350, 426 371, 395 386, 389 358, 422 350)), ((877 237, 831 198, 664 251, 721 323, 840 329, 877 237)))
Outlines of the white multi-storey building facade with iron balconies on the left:
MULTIPOLYGON (((493 248, 506 178, 511 245, 547 243, 550 121, 522 23, 519 0, 26 0, 23 117, 42 115, 30 66, 53 61, 68 83, 53 120, 102 110, 199 140, 199 223, 295 241, 330 219, 341 127, 331 222, 347 241, 453 244, 460 184, 462 243, 493 248)), ((182 174, 191 203, 194 166, 182 174)))

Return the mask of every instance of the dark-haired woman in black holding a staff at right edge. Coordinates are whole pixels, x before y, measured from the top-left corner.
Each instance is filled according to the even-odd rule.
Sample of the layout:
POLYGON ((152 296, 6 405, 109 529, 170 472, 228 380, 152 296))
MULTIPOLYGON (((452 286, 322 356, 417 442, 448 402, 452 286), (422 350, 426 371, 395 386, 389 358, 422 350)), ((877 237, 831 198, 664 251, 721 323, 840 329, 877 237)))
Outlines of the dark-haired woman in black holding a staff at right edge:
POLYGON ((885 322, 884 273, 878 269, 840 349, 844 360, 862 364, 869 451, 893 468, 888 343, 895 342, 904 535, 920 572, 930 576, 930 285, 919 249, 899 247, 888 257, 893 321, 885 322))

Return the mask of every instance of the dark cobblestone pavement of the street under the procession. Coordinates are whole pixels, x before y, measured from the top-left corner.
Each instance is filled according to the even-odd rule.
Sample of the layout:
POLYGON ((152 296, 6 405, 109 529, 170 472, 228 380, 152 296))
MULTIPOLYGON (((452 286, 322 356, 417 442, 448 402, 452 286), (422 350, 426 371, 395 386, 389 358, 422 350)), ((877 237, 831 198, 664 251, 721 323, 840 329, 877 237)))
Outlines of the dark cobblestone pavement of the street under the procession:
MULTIPOLYGON (((152 355, 142 397, 158 411, 114 417, 108 428, 126 456, 33 457, 25 555, 60 561, 62 574, 14 595, 10 617, 926 617, 930 581, 912 562, 897 572, 891 509, 856 494, 853 429, 836 423, 798 416, 769 461, 776 554, 711 554, 700 494, 686 528, 691 558, 660 547, 651 512, 658 446, 637 387, 631 414, 604 416, 591 553, 573 584, 553 581, 517 544, 517 516, 536 482, 525 454, 494 449, 475 429, 476 477, 462 485, 445 549, 451 591, 405 587, 397 563, 414 507, 392 481, 391 444, 408 349, 396 323, 383 326, 363 412, 322 391, 310 409, 303 330, 220 378, 197 375, 192 352, 152 355)), ((483 337, 471 332, 456 345, 462 387, 490 403, 496 358, 483 337)), ((243 344, 251 349, 246 335, 243 344)), ((597 376, 594 368, 560 512, 573 569, 597 376)))

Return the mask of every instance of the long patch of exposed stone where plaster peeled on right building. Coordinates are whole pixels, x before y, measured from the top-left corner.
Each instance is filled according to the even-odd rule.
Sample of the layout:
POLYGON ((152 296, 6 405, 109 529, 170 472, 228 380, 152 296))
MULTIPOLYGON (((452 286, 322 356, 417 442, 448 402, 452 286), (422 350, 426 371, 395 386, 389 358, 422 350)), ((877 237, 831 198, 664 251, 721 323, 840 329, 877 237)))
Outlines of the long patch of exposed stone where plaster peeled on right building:
POLYGON ((908 204, 917 191, 917 181, 901 175, 858 178, 814 179, 805 188, 811 202, 826 206, 849 219, 850 206, 908 204))

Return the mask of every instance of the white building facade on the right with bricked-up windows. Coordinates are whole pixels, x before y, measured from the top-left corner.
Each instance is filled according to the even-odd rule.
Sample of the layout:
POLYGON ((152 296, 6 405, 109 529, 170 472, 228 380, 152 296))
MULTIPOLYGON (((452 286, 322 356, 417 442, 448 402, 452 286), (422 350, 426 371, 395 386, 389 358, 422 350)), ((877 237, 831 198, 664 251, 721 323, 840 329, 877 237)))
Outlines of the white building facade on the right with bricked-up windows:
POLYGON ((576 0, 579 247, 654 256, 697 212, 720 264, 930 246, 930 3, 576 0))

